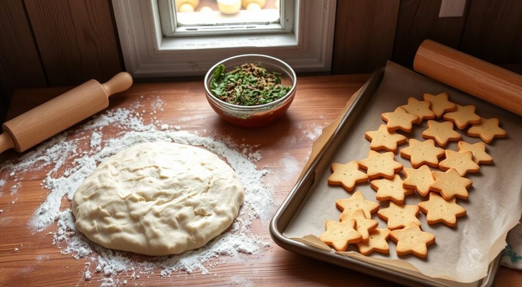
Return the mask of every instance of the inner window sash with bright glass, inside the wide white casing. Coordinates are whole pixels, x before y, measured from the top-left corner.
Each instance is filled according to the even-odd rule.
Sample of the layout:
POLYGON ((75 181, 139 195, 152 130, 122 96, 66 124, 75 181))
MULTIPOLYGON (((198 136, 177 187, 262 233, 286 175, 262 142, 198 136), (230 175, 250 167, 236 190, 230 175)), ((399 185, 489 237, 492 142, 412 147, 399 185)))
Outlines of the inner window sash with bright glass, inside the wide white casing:
POLYGON ((294 0, 160 0, 165 37, 289 33, 294 0), (282 4, 282 5, 280 5, 282 4))

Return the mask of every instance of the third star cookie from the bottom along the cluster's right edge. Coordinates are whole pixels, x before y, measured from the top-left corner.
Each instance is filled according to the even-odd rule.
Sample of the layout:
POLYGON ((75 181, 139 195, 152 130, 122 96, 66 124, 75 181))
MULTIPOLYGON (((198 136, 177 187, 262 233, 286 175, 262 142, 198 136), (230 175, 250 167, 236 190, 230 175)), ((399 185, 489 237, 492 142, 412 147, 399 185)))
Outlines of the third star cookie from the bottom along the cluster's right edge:
POLYGON ((468 198, 468 188, 473 184, 471 180, 462 177, 457 170, 449 169, 446 172, 432 172, 435 181, 430 185, 430 190, 440 193, 446 200, 458 197, 461 199, 468 198))

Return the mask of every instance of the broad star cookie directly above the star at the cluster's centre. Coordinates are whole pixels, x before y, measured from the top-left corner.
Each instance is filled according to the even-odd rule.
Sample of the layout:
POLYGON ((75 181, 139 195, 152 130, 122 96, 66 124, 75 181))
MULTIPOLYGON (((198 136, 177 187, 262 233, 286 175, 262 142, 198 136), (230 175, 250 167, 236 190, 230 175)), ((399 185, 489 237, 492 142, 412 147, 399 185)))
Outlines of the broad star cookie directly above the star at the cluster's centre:
POLYGON ((409 147, 400 150, 400 156, 409 159, 413 168, 417 169, 423 164, 436 168, 438 166, 438 158, 444 156, 444 150, 435 147, 433 139, 420 141, 410 138, 409 144, 409 147))

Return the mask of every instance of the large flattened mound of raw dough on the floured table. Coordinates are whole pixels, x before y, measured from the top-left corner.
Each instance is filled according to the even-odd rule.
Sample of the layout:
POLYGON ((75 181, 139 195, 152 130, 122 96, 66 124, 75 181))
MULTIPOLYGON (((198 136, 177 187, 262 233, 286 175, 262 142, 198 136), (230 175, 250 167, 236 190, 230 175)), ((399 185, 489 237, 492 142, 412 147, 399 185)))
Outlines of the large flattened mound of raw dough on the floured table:
POLYGON ((243 203, 230 166, 205 149, 140 143, 101 163, 73 198, 76 228, 106 248, 180 254, 226 230, 243 203))

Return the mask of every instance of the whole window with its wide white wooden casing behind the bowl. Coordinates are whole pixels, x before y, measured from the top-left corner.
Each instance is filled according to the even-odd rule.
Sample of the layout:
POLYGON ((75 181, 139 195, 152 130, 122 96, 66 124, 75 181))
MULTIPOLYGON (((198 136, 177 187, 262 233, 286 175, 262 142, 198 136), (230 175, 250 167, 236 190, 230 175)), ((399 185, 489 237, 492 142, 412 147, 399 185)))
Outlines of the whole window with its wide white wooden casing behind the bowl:
POLYGON ((280 0, 279 9, 266 0, 264 12, 243 7, 232 16, 218 11, 217 0, 196 0, 194 12, 173 0, 112 2, 125 66, 134 77, 202 75, 221 59, 246 53, 278 57, 296 71, 331 66, 335 0, 280 0), (212 11, 201 11, 205 3, 215 5, 212 11))

